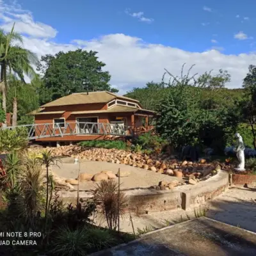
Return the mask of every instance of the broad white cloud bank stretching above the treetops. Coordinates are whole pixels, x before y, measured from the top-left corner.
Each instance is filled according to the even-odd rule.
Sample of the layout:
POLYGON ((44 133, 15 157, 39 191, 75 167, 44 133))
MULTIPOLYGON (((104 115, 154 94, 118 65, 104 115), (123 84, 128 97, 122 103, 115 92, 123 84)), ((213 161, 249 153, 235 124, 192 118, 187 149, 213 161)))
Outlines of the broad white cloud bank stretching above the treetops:
MULTIPOLYGON (((3 1, 0 0, 0 3, 3 1)), ((14 10, 15 8, 12 6, 12 12, 19 13, 19 10, 17 12, 14 10)), ((24 10, 22 12, 26 13, 24 10)), ((3 19, 0 20, 5 24, 3 19)), ((33 20, 31 20, 33 28, 32 24, 35 24, 33 20)), ((34 29, 41 31, 39 27, 34 29)), ((38 31, 35 31, 35 34, 40 35, 38 31)), ((221 52, 223 51, 221 47, 202 52, 189 52, 161 44, 148 44, 141 38, 122 33, 104 35, 88 41, 78 38, 68 44, 56 44, 49 37, 24 36, 24 47, 35 52, 39 57, 59 51, 74 51, 77 48, 98 51, 99 60, 106 63, 104 70, 109 70, 111 74, 110 83, 118 88, 121 94, 133 87, 145 86, 148 81, 161 81, 164 68, 174 76, 179 76, 183 63, 187 63, 184 72, 195 64, 191 74, 203 74, 212 69, 217 72, 220 68, 228 70, 231 74, 228 88, 239 88, 248 72, 248 66, 256 63, 256 54, 253 52, 226 55, 221 52)))

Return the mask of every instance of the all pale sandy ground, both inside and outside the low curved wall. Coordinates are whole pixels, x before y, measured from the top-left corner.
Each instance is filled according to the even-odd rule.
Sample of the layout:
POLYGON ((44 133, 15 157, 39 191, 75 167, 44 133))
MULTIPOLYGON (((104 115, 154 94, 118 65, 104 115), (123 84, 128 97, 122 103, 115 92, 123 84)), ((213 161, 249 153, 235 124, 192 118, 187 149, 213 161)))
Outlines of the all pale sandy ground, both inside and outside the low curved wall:
MULTIPOLYGON (((76 179, 78 173, 78 165, 74 164, 72 159, 63 159, 60 168, 53 167, 52 171, 60 177, 76 179)), ((157 185, 161 180, 177 179, 168 175, 154 173, 141 168, 135 168, 125 164, 115 164, 106 162, 81 161, 81 172, 98 173, 103 170, 118 172, 121 170, 131 171, 129 177, 122 177, 121 189, 131 188, 148 188, 149 186, 157 185)), ((74 186, 76 188, 76 186, 74 186)), ((90 190, 95 188, 95 182, 82 182, 79 190, 90 190)), ((207 204, 202 205, 201 209, 207 209, 206 216, 214 220, 222 221, 236 227, 245 228, 256 232, 256 188, 229 188, 225 193, 214 198, 207 204)), ((166 224, 178 223, 182 220, 191 220, 195 218, 195 209, 191 208, 188 211, 177 209, 173 211, 157 212, 136 216, 134 214, 125 214, 120 221, 120 229, 124 232, 135 232, 138 228, 165 227, 166 224), (132 227, 133 225, 133 227, 132 227)), ((196 209, 198 211, 198 209, 196 209)), ((100 216, 97 216, 95 222, 98 225, 106 226, 106 222, 100 216)))

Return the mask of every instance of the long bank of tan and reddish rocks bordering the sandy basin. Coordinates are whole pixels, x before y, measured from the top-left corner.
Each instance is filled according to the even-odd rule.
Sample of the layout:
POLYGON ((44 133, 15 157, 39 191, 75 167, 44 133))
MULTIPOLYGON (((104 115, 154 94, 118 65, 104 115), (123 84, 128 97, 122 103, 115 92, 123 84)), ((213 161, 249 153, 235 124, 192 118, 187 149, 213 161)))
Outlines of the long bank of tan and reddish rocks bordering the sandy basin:
MULTIPOLYGON (((181 162, 177 161, 177 159, 173 159, 172 156, 170 157, 159 154, 148 156, 147 154, 136 154, 134 152, 117 149, 83 148, 71 145, 49 149, 52 150, 52 154, 54 154, 54 156, 74 157, 86 159, 88 161, 107 161, 109 163, 127 164, 152 172, 172 175, 178 178, 184 177, 188 179, 188 184, 196 184, 199 180, 208 179, 211 175, 215 175, 219 170, 221 170, 222 167, 218 162, 206 163, 205 159, 202 159, 199 163, 189 161, 181 162)), ((96 176, 95 179, 98 179, 97 177, 98 176, 96 176)), ((90 177, 90 180, 94 180, 93 177, 90 177)), ((76 182, 73 180, 72 183, 76 182)))

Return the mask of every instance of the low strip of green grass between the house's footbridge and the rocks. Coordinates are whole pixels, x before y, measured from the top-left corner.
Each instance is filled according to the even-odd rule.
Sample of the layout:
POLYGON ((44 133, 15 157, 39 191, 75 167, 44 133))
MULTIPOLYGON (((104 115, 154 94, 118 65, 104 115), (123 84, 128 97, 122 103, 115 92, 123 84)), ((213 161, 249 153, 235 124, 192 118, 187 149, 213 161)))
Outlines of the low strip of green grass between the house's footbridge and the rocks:
POLYGON ((88 140, 79 143, 79 146, 88 148, 116 148, 116 149, 127 149, 124 141, 116 140, 88 140))

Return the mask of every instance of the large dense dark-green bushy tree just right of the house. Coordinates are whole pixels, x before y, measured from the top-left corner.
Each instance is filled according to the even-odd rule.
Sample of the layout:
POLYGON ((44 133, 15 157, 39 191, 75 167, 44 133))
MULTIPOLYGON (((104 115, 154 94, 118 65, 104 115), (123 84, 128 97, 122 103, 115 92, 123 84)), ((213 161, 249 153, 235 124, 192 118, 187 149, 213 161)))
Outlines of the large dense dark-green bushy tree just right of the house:
MULTIPOLYGON (((156 129, 177 149, 184 145, 201 144, 216 151, 223 150, 238 124, 236 111, 213 105, 202 108, 205 90, 223 87, 223 79, 220 79, 223 73, 220 72, 218 79, 207 76, 203 83, 202 76, 198 79, 195 79, 195 75, 189 76, 193 66, 185 76, 183 67, 180 77, 174 77, 166 70, 172 79, 167 84, 168 94, 158 108, 160 115, 156 129), (213 88, 205 88, 207 83, 207 86, 211 86, 211 81, 214 81, 213 88)), ((226 72, 224 74, 227 75, 226 72)))

